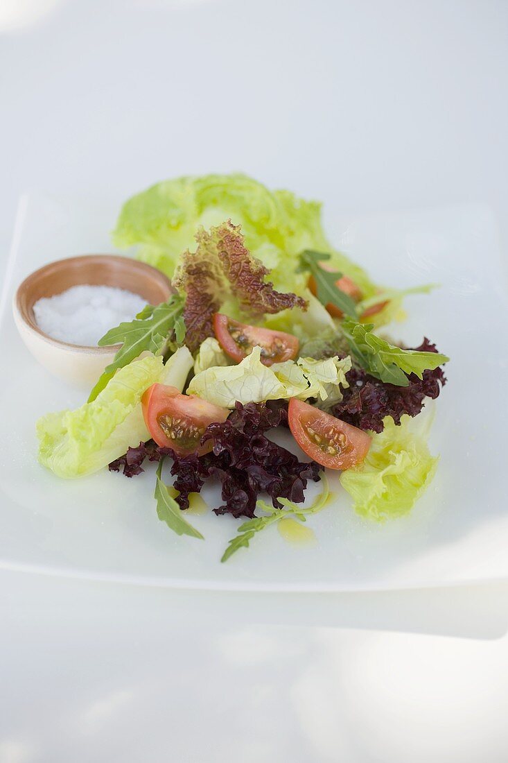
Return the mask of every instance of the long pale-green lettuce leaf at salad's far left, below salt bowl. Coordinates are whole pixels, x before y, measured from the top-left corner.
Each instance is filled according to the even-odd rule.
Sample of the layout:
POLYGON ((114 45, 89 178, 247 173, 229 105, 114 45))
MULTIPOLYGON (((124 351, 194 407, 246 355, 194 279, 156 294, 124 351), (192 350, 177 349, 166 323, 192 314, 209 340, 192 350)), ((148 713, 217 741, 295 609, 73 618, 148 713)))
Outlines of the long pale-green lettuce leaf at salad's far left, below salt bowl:
POLYGON ((40 463, 58 477, 81 477, 149 439, 141 410, 143 392, 157 382, 182 390, 192 363, 186 347, 166 365, 161 356, 134 360, 118 369, 91 403, 41 417, 37 421, 40 463))

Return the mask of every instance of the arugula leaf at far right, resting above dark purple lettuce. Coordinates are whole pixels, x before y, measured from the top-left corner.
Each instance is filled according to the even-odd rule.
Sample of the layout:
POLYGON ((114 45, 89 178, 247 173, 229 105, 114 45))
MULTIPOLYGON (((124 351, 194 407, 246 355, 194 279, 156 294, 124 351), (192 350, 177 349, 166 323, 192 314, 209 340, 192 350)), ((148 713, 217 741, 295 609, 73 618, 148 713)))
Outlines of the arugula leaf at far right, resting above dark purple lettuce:
POLYGON ((394 346, 372 333, 374 324, 357 324, 355 320, 346 318, 341 328, 352 355, 362 368, 371 376, 397 387, 409 385, 406 374, 413 373, 421 379, 426 369, 436 369, 449 361, 449 357, 441 353, 423 353, 394 346))

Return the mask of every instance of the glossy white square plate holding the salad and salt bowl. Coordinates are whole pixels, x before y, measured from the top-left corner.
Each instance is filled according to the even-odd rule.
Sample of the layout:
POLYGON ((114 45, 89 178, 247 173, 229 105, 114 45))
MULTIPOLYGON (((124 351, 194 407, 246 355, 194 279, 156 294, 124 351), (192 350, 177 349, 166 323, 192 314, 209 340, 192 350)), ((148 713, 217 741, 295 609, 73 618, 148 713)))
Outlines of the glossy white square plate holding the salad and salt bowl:
MULTIPOLYGON (((452 357, 431 439, 441 454, 429 491, 413 511, 385 524, 335 500, 311 517, 317 544, 288 545, 275 528, 226 564, 238 522, 211 511, 192 522, 205 542, 178 537, 156 516, 153 471, 127 480, 107 471, 60 481, 37 463, 34 423, 76 407, 85 393, 37 365, 14 328, 10 301, 27 273, 59 257, 111 251, 117 205, 90 199, 21 199, 6 266, 0 340, 0 567, 178 588, 353 591, 493 580, 508 576, 506 501, 506 279, 490 211, 440 210, 330 216, 330 238, 379 282, 439 282, 408 298, 410 319, 393 333, 423 335, 452 357)), ((315 491, 310 488, 309 494, 315 491)))

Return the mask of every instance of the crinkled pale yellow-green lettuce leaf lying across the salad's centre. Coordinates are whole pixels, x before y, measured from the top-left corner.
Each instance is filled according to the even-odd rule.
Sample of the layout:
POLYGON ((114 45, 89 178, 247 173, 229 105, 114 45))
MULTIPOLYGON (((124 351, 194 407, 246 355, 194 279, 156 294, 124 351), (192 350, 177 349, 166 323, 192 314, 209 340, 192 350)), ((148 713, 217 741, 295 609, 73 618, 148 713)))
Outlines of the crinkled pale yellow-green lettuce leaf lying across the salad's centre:
POLYGON ((196 394, 211 403, 233 408, 235 402, 260 403, 266 400, 317 397, 326 401, 333 396, 342 399, 339 385, 347 386, 346 372, 351 359, 329 358, 288 360, 268 368, 261 362, 261 348, 238 365, 210 368, 196 375, 188 386, 188 394, 196 394), (339 397, 340 396, 340 397, 339 397))

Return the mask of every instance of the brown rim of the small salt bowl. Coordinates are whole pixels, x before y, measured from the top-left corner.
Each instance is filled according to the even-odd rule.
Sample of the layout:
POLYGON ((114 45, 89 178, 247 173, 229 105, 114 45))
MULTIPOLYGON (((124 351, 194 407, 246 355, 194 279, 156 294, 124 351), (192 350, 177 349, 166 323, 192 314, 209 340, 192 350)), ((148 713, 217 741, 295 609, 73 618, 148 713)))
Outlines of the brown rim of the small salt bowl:
MULTIPOLYGON (((131 270, 135 272, 139 272, 140 275, 148 275, 151 278, 155 278, 157 281, 160 282, 161 286, 166 286, 168 291, 168 298, 169 295, 172 293, 172 286, 171 282, 169 281, 169 278, 167 275, 165 275, 162 271, 153 268, 151 265, 147 265, 146 262, 140 262, 139 259, 132 259, 131 257, 125 257, 121 254, 79 254, 72 257, 64 257, 63 259, 56 259, 53 262, 47 262, 46 265, 41 266, 40 268, 37 268, 37 270, 34 270, 34 272, 31 272, 30 275, 27 275, 26 278, 21 282, 21 284, 18 286, 14 293, 14 306, 16 311, 18 312, 18 315, 21 317, 21 320, 23 323, 27 326, 29 330, 36 333, 38 336, 40 336, 41 339, 47 341, 50 344, 53 344, 53 346, 57 347, 63 347, 69 350, 72 350, 74 352, 85 352, 85 353, 94 353, 96 355, 105 355, 107 353, 116 353, 117 349, 121 347, 120 344, 109 344, 105 346, 90 346, 90 345, 83 345, 83 344, 72 344, 70 342, 63 342, 62 340, 55 339, 53 336, 50 336, 45 331, 40 329, 40 327, 37 325, 37 322, 35 318, 33 317, 33 313, 31 314, 29 311, 33 311, 33 307, 35 302, 37 302, 37 299, 39 297, 35 298, 31 304, 28 307, 28 310, 25 309, 24 305, 22 304, 22 298, 24 296, 24 292, 27 291, 27 288, 31 286, 33 282, 37 282, 37 280, 40 278, 41 275, 47 273, 47 271, 53 269, 55 271, 59 271, 63 268, 66 268, 66 266, 69 266, 76 262, 84 262, 85 260, 88 260, 91 264, 94 264, 94 261, 97 265, 106 265, 108 262, 116 261, 120 262, 121 265, 127 266, 131 270)), ((79 284, 76 284, 78 286, 79 284)), ((83 284, 86 285, 86 284, 83 284)), ((118 287, 121 288, 121 287, 118 287)))

